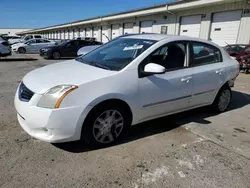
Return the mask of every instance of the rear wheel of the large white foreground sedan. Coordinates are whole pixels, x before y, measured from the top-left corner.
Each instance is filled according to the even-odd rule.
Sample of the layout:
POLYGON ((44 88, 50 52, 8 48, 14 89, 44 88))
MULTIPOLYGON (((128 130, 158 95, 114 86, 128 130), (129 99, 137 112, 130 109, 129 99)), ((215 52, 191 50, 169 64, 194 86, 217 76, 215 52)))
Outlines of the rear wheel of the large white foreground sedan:
MULTIPOLYGON (((224 97, 224 98, 227 98, 227 97, 224 97)), ((226 84, 217 93, 217 96, 212 104, 212 108, 217 113, 225 112, 228 109, 228 107, 230 106, 231 101, 232 101, 232 90, 229 87, 229 85, 226 84), (220 106, 221 100, 222 100, 222 95, 226 95, 226 96, 229 95, 229 98, 225 99, 225 104, 223 107, 220 106)))

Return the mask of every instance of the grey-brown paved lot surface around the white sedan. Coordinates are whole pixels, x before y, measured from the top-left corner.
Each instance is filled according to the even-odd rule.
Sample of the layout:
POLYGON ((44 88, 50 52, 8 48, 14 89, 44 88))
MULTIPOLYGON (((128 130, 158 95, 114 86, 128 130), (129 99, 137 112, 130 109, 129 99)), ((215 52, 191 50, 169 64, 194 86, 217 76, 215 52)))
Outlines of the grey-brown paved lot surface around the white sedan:
POLYGON ((241 74, 228 112, 198 109, 135 126, 116 146, 52 145, 18 125, 22 77, 55 63, 0 61, 0 187, 250 187, 250 75, 241 74))

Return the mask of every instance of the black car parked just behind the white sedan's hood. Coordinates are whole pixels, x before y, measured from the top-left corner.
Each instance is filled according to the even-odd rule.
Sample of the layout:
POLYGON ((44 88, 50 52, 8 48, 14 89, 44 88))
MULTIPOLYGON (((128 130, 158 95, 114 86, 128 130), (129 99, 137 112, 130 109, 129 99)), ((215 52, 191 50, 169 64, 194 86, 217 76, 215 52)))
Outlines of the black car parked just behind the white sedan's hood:
POLYGON ((77 51, 83 46, 100 44, 88 40, 62 40, 54 46, 42 48, 40 56, 48 59, 60 59, 61 57, 77 57, 77 51))

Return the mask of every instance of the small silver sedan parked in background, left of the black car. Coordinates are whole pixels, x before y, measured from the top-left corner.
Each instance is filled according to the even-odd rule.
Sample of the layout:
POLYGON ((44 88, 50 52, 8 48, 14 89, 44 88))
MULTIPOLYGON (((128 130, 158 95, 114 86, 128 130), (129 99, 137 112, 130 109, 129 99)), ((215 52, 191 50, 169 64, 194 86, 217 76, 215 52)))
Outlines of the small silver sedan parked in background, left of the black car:
POLYGON ((39 53, 39 50, 44 47, 54 45, 54 41, 46 39, 31 39, 24 43, 17 43, 11 46, 14 52, 18 53, 39 53))

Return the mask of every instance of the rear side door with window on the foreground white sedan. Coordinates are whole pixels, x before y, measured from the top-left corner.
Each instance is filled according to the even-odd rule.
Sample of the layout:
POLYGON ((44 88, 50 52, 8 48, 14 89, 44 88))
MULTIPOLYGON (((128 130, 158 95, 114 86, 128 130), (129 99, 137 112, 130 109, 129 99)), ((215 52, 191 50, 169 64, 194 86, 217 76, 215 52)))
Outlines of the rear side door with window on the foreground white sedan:
POLYGON ((225 83, 225 66, 218 48, 200 42, 191 42, 193 90, 191 106, 213 102, 217 91, 225 83))

